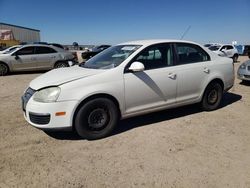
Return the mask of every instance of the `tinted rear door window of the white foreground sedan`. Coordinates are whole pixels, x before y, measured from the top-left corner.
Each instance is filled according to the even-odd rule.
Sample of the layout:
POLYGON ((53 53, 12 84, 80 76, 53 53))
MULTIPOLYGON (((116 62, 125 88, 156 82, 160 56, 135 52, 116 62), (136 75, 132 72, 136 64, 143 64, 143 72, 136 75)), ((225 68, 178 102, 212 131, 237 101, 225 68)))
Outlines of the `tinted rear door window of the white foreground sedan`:
POLYGON ((199 46, 194 44, 177 43, 176 50, 179 64, 209 61, 209 55, 199 46))

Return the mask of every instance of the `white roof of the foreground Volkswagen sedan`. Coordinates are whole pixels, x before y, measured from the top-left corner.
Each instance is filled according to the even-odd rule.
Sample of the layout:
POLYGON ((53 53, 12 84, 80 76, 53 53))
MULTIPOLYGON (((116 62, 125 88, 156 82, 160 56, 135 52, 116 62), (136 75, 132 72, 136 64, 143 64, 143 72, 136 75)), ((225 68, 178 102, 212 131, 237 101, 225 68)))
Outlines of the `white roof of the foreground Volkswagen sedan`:
POLYGON ((143 46, 149 46, 153 44, 159 44, 159 43, 169 43, 169 42, 184 42, 184 43, 190 43, 190 44, 196 44, 199 45, 198 43, 191 42, 191 41, 186 41, 186 40, 173 40, 173 39, 151 39, 151 40, 138 40, 138 41, 130 41, 130 42, 125 42, 121 43, 119 45, 143 45, 143 46))

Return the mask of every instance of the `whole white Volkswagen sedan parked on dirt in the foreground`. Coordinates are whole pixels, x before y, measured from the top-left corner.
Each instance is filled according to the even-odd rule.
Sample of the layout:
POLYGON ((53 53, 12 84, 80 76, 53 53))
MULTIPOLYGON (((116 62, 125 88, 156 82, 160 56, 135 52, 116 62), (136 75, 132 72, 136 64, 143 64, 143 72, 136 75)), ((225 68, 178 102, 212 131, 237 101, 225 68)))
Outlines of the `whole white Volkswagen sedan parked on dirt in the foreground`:
POLYGON ((22 97, 25 119, 40 129, 109 135, 119 119, 200 103, 217 109, 233 86, 232 59, 178 40, 122 43, 85 64, 47 72, 22 97))

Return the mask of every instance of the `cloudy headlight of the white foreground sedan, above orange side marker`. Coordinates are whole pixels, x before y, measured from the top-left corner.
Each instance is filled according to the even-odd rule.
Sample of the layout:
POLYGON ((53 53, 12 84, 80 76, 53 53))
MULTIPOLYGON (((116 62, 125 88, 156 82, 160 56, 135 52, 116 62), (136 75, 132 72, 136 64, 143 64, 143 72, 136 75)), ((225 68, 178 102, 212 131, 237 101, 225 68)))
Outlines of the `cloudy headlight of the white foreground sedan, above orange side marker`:
POLYGON ((34 94, 33 99, 37 102, 55 102, 59 97, 60 91, 59 87, 42 89, 34 94))

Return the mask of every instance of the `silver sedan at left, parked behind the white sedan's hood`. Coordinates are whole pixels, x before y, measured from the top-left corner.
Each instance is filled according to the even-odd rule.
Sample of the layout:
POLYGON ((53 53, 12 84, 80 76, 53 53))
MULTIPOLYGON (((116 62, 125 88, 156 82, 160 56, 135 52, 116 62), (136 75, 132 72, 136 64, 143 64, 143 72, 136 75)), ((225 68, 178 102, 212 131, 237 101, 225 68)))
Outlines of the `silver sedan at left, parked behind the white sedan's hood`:
POLYGON ((0 75, 9 72, 50 70, 74 64, 74 56, 64 49, 42 44, 29 44, 0 54, 0 75))

